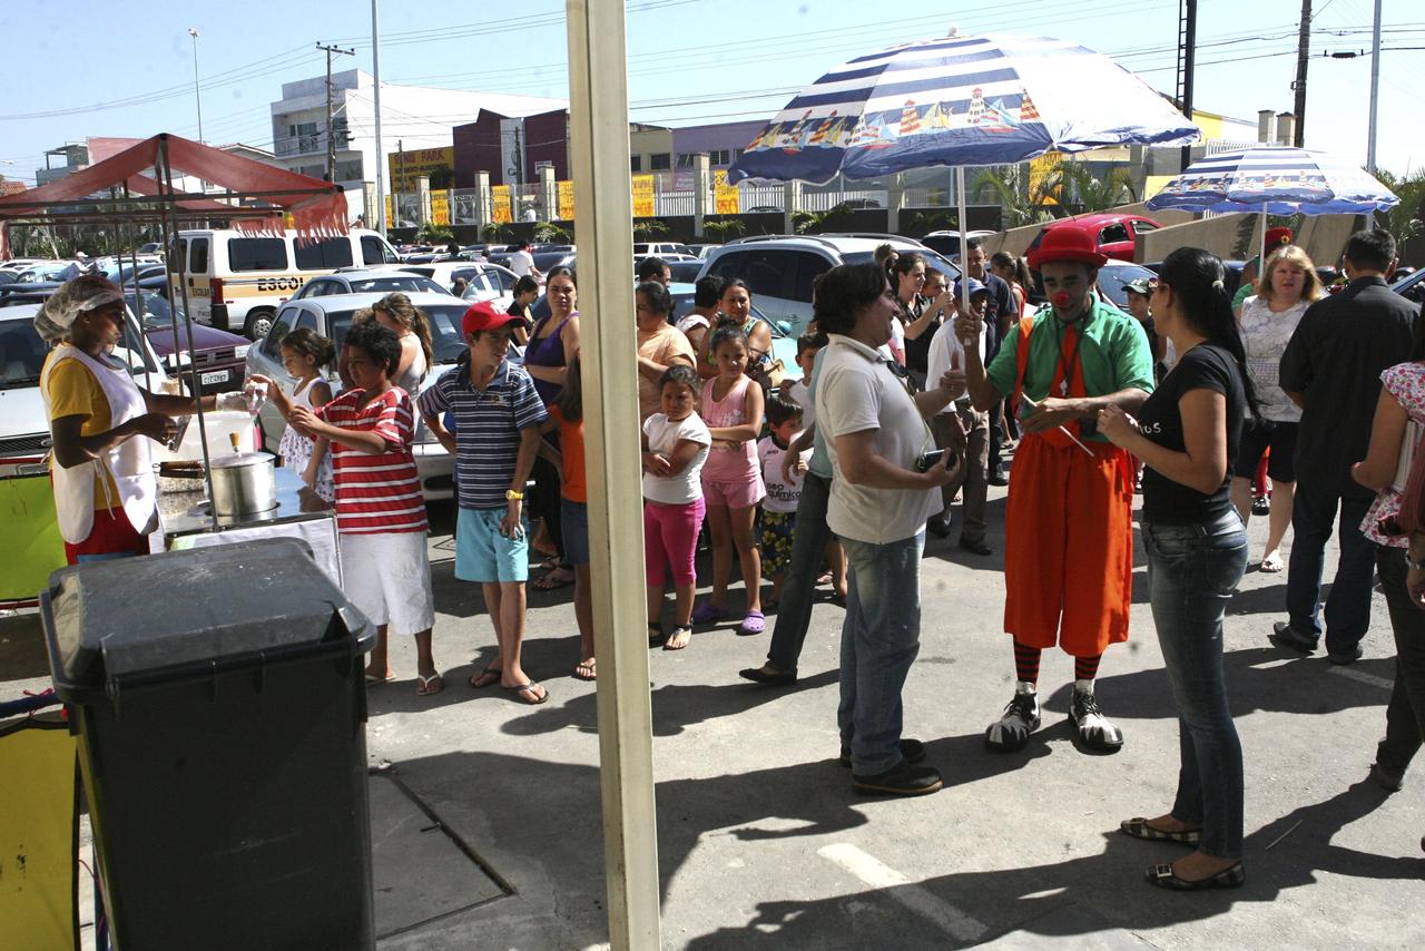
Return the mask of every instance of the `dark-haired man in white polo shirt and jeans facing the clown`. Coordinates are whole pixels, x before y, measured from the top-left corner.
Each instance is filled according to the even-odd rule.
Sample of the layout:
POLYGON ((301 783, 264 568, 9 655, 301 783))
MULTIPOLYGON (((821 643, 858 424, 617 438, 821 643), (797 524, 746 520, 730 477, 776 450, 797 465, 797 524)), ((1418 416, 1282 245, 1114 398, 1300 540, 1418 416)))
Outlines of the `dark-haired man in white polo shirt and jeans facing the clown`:
POLYGON ((826 523, 851 569, 836 710, 842 760, 849 754, 858 793, 922 796, 940 788, 940 774, 915 766, 922 744, 901 739, 901 689, 921 649, 925 520, 939 510, 958 456, 916 461, 935 449, 925 418, 965 391, 965 375, 946 374, 912 396, 905 371, 876 352, 901 305, 875 264, 824 274, 814 308, 831 336, 815 399, 832 466, 826 523))

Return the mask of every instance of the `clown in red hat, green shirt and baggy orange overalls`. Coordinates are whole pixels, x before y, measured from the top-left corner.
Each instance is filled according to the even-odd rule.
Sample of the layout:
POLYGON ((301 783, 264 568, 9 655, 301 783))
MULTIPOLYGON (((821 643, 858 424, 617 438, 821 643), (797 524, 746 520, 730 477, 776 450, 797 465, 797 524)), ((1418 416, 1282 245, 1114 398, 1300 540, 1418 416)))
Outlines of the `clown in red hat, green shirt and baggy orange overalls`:
MULTIPOLYGON (((1094 413, 1133 413, 1153 389, 1147 336, 1094 297, 1107 258, 1077 228, 1053 228, 1029 252, 1050 307, 1010 328, 985 368, 965 348, 975 409, 1005 396, 1025 439, 1015 455, 1005 515, 1005 630, 1015 639, 1015 697, 985 731, 992 750, 1019 750, 1039 729, 1039 657, 1059 644, 1074 659, 1069 721, 1083 749, 1112 753, 1123 733, 1099 711, 1093 680, 1112 643, 1129 639, 1133 600, 1133 468, 1094 428, 1094 413)), ((955 321, 973 344, 980 318, 955 321)))

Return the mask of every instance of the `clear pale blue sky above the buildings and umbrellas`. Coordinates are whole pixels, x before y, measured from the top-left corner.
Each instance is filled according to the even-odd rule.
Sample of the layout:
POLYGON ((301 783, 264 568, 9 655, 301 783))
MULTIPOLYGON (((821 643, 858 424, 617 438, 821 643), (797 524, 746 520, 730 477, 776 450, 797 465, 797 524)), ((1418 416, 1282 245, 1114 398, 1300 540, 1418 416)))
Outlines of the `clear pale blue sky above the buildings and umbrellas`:
MULTIPOLYGON (((1371 0, 1315 0, 1307 147, 1365 161, 1371 0)), ((1378 164, 1425 164, 1425 9, 1385 0, 1378 164)), ((1200 0, 1197 107, 1255 120, 1292 107, 1300 0, 1200 0)), ((1178 0, 628 0, 634 121, 690 125, 765 118, 797 87, 885 46, 969 33, 1035 33, 1112 54, 1171 93, 1178 0), (902 19, 878 20, 878 11, 902 19), (912 16, 906 16, 912 14, 912 16)), ((271 147, 281 84, 321 76, 315 43, 356 48, 335 68, 370 70, 369 0, 4 0, 0 174, 33 178, 43 153, 88 135, 197 134, 198 38, 204 138, 271 147), (13 163, 13 164, 11 164, 13 163)), ((382 78, 567 97, 559 0, 382 0, 382 78)), ((442 117, 449 124, 449 117, 442 117)), ((383 121, 392 140, 402 123, 383 121)), ((425 131, 425 130, 423 130, 425 131)))

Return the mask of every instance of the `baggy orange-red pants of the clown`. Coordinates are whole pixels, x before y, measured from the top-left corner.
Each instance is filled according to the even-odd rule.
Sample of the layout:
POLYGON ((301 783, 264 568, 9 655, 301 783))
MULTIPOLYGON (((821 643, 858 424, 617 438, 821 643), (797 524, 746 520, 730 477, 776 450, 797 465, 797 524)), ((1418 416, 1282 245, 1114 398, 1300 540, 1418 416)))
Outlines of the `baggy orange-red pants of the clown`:
POLYGON ((1005 515, 1005 630, 1074 657, 1129 639, 1133 466, 1121 449, 1026 433, 1005 515))

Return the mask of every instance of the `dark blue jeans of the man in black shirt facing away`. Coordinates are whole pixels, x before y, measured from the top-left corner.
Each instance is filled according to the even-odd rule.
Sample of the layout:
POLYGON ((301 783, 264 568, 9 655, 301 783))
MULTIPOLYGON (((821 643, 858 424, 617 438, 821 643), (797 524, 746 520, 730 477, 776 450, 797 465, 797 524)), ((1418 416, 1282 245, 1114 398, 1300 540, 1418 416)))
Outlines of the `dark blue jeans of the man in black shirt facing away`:
POLYGON ((1321 573, 1325 567, 1331 522, 1341 508, 1341 559, 1327 597, 1327 650, 1351 656, 1371 629, 1371 580, 1375 573, 1375 545, 1361 535, 1361 519, 1371 508, 1367 489, 1338 495, 1310 479, 1297 482, 1291 509, 1291 562, 1287 566, 1287 613, 1291 627, 1307 637, 1321 636, 1321 573))

